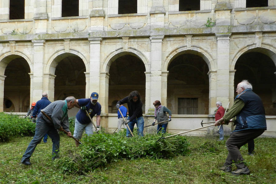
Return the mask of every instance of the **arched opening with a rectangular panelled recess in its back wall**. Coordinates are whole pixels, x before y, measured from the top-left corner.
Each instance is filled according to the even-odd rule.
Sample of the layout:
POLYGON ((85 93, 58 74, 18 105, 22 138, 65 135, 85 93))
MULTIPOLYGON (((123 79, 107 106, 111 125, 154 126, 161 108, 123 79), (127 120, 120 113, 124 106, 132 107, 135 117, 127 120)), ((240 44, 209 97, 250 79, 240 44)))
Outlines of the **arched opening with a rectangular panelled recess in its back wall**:
POLYGON ((201 56, 188 52, 168 66, 167 107, 173 114, 208 114, 209 68, 201 56))

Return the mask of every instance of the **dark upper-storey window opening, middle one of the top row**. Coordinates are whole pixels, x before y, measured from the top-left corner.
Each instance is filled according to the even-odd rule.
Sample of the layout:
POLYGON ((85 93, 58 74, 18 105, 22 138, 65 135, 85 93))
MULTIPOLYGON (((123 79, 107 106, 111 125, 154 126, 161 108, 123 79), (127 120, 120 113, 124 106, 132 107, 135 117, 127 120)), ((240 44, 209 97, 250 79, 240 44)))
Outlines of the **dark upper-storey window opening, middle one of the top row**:
POLYGON ((119 0, 118 14, 137 13, 137 0, 119 0))

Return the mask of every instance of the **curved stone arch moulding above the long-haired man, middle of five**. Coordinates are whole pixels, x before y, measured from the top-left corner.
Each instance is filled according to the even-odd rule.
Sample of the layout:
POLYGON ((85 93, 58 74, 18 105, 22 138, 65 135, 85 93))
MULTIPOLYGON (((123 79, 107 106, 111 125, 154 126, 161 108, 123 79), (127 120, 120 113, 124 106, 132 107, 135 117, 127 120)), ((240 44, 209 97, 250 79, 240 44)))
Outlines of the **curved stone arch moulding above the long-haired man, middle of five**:
POLYGON ((115 61, 117 58, 121 57, 121 56, 124 56, 126 54, 129 54, 129 55, 132 55, 132 56, 136 56, 138 57, 139 59, 142 60, 142 62, 144 63, 145 65, 145 68, 146 68, 146 71, 150 71, 150 64, 149 64, 149 61, 147 59, 147 57, 142 53, 140 52, 139 50, 137 50, 136 48, 132 48, 132 47, 129 47, 127 51, 125 51, 122 47, 121 48, 118 48, 112 52, 110 52, 104 59, 104 62, 101 66, 101 71, 106 71, 108 72, 109 71, 109 68, 110 68, 110 65, 113 61, 115 61))

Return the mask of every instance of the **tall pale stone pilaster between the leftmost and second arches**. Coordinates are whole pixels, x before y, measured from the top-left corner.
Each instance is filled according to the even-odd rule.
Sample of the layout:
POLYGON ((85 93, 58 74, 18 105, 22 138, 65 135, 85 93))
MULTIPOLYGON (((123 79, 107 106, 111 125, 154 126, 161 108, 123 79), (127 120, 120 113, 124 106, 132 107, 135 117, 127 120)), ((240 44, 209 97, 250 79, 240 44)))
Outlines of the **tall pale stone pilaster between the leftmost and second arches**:
MULTIPOLYGON (((30 89, 33 101, 41 99, 43 90, 43 67, 45 40, 32 40, 33 42, 33 84, 30 89)), ((31 101, 30 101, 31 102, 31 101)))

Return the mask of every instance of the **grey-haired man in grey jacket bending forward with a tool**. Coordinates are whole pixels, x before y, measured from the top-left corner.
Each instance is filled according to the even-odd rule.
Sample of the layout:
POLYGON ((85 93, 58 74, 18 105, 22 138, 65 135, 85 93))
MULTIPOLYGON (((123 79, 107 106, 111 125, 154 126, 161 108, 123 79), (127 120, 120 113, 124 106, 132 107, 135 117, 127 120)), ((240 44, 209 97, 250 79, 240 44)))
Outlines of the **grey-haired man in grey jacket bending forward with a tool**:
POLYGON ((62 129, 67 131, 67 136, 71 137, 71 132, 69 130, 69 118, 67 111, 72 109, 76 103, 75 97, 67 97, 65 100, 57 100, 49 104, 44 109, 41 109, 45 114, 47 114, 52 121, 39 113, 36 119, 36 131, 31 140, 28 148, 26 149, 21 163, 25 165, 31 165, 30 157, 33 154, 33 151, 36 148, 36 145, 40 143, 41 138, 48 133, 48 136, 51 137, 53 146, 52 146, 52 160, 58 158, 59 156, 59 134, 56 131, 57 129, 62 131, 62 129))

